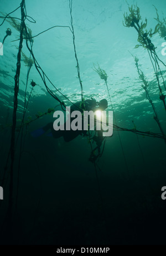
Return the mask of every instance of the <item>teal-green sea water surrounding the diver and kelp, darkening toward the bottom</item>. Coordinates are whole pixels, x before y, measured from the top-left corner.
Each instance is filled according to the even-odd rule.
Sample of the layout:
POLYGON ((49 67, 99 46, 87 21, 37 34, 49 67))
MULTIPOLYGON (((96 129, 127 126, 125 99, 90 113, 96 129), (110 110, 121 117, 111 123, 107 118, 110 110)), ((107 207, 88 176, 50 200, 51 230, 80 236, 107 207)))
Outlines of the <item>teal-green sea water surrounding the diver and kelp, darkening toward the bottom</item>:
MULTIPOLYGON (((27 15, 36 21, 25 21, 32 29, 33 36, 55 25, 71 26, 68 0, 29 0, 25 3, 27 15)), ((136 4, 136 1, 128 3, 136 4)), ((3 13, 12 12, 19 4, 18 0, 5 3, 0 0, 3 13)), ((164 0, 137 1, 143 21, 147 18, 147 29, 153 28, 154 31, 157 24, 154 18, 157 16, 153 4, 158 9, 159 17, 166 17, 164 0)), ((72 2, 75 45, 84 98, 94 97, 97 101, 107 99, 108 110, 113 110, 120 127, 133 129, 133 120, 139 131, 160 133, 132 57, 137 55, 140 68, 149 83, 149 95, 165 132, 165 109, 159 99, 153 66, 146 49, 134 48, 138 44, 136 30, 123 26, 123 13, 126 11, 128 12, 127 3, 122 0, 72 2), (94 71, 94 64, 97 63, 107 73, 112 106, 105 81, 94 71)), ((20 18, 20 9, 11 16, 20 18)), ((3 19, 0 20, 2 21, 3 19)), ((0 181, 4 181, 4 199, 0 201, 0 223, 4 223, 2 244, 11 243, 7 232, 3 232, 8 226, 4 217, 8 208, 10 158, 5 177, 4 166, 11 145, 9 126, 12 124, 14 76, 19 45, 19 32, 7 21, 0 27, 0 41, 6 35, 7 28, 12 29, 12 35, 6 38, 3 56, 0 56, 0 181), (13 40, 17 41, 12 42, 13 40)), ((160 38, 157 33, 151 40, 157 47, 155 50, 158 57, 166 63, 166 56, 162 55, 164 38, 160 38)), ((22 50, 29 57, 25 40, 22 50)), ((33 53, 60 93, 72 103, 80 101, 81 89, 70 29, 56 27, 38 35, 34 38, 33 53)), ((160 67, 166 81, 165 66, 161 64, 160 67)), ((21 120, 23 115, 27 79, 27 66, 23 57, 20 70, 17 120, 21 120)), ((39 111, 44 113, 58 105, 46 91, 34 65, 29 73, 27 100, 32 90, 32 79, 37 85, 32 91, 25 120, 29 116, 33 120, 39 111)), ((67 106, 71 105, 48 80, 46 84, 61 101, 67 106)), ((162 80, 160 84, 165 95, 162 80)), ((60 106, 57 110, 61 110, 60 106)), ((164 140, 136 135, 130 131, 119 131, 118 135, 114 130, 113 136, 106 139, 102 157, 96 162, 96 172, 94 164, 89 161, 91 147, 87 137, 78 136, 67 143, 62 137, 55 140, 45 135, 38 138, 30 135, 30 132, 53 121, 53 114, 44 115, 42 119, 31 122, 27 129, 24 128, 19 183, 20 137, 15 146, 12 243, 165 244, 166 202, 161 198, 161 189, 166 186, 164 140)), ((113 122, 115 124, 115 119, 113 122)), ((19 124, 17 121, 17 125, 19 124)), ((17 136, 16 131, 15 141, 17 136)))

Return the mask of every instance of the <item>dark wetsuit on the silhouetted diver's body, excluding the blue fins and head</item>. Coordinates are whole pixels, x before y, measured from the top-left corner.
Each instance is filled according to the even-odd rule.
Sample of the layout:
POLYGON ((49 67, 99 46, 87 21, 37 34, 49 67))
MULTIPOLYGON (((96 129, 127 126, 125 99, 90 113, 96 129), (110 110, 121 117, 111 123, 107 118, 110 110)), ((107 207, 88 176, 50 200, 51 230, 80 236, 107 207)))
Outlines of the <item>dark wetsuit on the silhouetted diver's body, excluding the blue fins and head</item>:
MULTIPOLYGON (((83 112, 83 110, 80 109, 81 103, 82 103, 82 101, 79 101, 79 102, 75 103, 74 105, 71 105, 70 111, 73 112, 75 110, 80 110, 81 112, 83 112)), ((90 111, 90 110, 95 111, 96 110, 96 107, 97 107, 96 100, 88 99, 88 100, 85 100, 84 103, 85 103, 85 110, 86 111, 90 111)), ((74 118, 71 117, 70 123, 73 119, 74 118)), ((85 136, 87 134, 87 131, 84 131, 84 130, 82 130, 82 131, 79 131, 79 130, 76 130, 76 131, 69 130, 69 131, 67 131, 66 130, 66 123, 64 124, 64 130, 55 131, 54 127, 53 127, 53 123, 49 122, 49 124, 47 124, 46 126, 43 127, 43 130, 48 131, 49 129, 51 129, 51 134, 53 135, 53 137, 55 139, 63 136, 64 140, 66 142, 69 142, 69 141, 75 139, 78 135, 84 135, 85 136)))

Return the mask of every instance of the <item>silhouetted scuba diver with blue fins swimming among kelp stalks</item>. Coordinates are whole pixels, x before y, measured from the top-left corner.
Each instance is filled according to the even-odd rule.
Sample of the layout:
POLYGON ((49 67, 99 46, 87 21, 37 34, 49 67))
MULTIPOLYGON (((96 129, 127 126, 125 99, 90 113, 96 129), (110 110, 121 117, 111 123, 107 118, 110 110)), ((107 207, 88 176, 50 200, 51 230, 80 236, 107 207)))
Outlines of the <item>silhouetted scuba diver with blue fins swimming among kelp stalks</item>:
MULTIPOLYGON (((87 99, 84 100, 84 102, 79 101, 73 105, 70 106, 70 114, 73 111, 79 110, 81 113, 83 113, 84 110, 86 111, 103 111, 105 109, 107 109, 108 107, 108 102, 106 99, 102 99, 100 100, 100 102, 97 102, 95 99, 91 98, 91 99, 87 99)), ((70 122, 73 120, 74 118, 71 117, 70 122)), ((83 119, 82 119, 83 120, 83 119)), ((83 136, 89 136, 88 131, 87 130, 66 130, 66 122, 64 123, 64 129, 63 130, 58 130, 55 131, 54 127, 53 127, 53 122, 49 122, 49 124, 45 125, 44 127, 35 130, 33 132, 31 132, 31 135, 33 137, 39 137, 41 135, 43 135, 45 132, 47 132, 48 130, 51 130, 51 132, 49 134, 47 134, 47 136, 53 136, 55 139, 58 139, 59 137, 63 137, 65 142, 69 142, 73 139, 75 139, 77 136, 79 135, 83 135, 83 136)), ((102 143, 102 132, 101 131, 97 131, 98 136, 94 136, 94 141, 96 141, 96 144, 98 146, 101 145, 102 143), (98 139, 97 139, 98 138, 98 139)))

